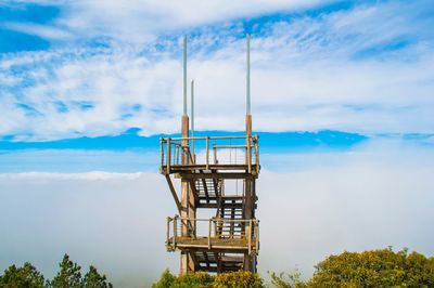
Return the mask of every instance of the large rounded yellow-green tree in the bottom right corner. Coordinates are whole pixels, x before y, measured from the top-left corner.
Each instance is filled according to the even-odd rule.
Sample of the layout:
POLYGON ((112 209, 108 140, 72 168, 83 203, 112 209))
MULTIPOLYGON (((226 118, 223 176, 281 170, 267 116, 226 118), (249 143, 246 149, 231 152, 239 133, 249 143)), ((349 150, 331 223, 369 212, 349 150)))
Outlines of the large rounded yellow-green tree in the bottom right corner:
POLYGON ((330 256, 309 287, 434 287, 434 258, 392 248, 330 256))

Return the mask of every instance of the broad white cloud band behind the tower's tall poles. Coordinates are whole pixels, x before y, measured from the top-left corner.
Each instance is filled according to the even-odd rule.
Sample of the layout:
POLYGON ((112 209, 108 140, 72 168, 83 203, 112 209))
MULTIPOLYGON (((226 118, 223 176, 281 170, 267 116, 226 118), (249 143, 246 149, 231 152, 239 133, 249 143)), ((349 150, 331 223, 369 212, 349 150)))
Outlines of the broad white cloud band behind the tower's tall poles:
MULTIPOLYGON (((128 8, 116 2, 104 6, 111 12, 99 12, 99 17, 114 21, 111 13, 118 13, 124 19, 136 11, 141 16, 132 18, 146 18, 145 6, 136 11, 135 4, 128 8)), ((97 8, 89 9, 89 15, 94 11, 97 8)), ((80 13, 71 13, 89 23, 86 16, 77 16, 80 13)), ((247 9, 245 13, 256 12, 247 9)), ((430 22, 416 4, 386 2, 258 25, 252 40, 254 129, 433 132, 430 22), (394 41, 404 44, 388 48, 394 41)), ((100 25, 98 17, 95 23, 100 25)), ((114 24, 101 25, 110 29, 114 24)), ((125 25, 142 27, 128 21, 125 25)), ((178 35, 182 29, 174 32, 174 39, 162 37, 144 47, 126 40, 135 39, 126 32, 126 39, 112 39, 103 45, 3 57, 0 73, 8 81, 0 87, 7 88, 0 91, 4 110, 0 133, 52 140, 116 134, 130 127, 142 128, 143 134, 179 131, 182 76, 178 35), (17 68, 23 70, 16 73, 17 68), (25 82, 30 84, 21 86, 25 82), (41 115, 30 117, 16 102, 41 115), (58 112, 58 102, 66 105, 68 113, 58 112), (79 102, 94 107, 80 109, 79 102), (136 104, 141 109, 135 110, 136 104)), ((192 29, 189 78, 196 82, 199 130, 244 127, 245 43, 239 38, 243 30, 237 21, 192 29)))

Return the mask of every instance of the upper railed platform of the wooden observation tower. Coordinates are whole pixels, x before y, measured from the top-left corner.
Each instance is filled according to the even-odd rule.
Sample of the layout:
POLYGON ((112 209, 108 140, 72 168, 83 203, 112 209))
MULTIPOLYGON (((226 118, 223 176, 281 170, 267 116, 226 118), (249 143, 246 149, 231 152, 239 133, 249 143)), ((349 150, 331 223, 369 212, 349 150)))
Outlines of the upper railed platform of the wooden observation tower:
POLYGON ((259 173, 258 135, 161 139, 162 174, 227 173, 240 178, 259 173), (240 174, 242 173, 242 174, 240 174))

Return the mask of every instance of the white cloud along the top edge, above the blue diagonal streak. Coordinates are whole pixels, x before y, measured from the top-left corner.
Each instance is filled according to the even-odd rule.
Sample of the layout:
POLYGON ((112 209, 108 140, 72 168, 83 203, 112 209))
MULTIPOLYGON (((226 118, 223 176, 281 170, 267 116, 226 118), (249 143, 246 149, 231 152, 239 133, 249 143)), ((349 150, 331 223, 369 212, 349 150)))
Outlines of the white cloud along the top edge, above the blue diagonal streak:
POLYGON ((85 37, 108 36, 148 41, 159 32, 179 31, 273 12, 303 10, 330 0, 225 1, 75 1, 59 23, 85 37))

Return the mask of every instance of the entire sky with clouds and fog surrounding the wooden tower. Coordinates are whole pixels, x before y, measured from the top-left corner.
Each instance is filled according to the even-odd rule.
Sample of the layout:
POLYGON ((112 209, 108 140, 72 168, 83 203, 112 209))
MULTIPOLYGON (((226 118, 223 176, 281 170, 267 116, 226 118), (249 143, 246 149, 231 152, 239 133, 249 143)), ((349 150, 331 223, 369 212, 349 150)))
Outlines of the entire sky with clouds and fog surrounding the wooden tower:
POLYGON ((177 270, 150 219, 175 211, 158 139, 180 130, 184 35, 197 134, 243 132, 252 35, 260 273, 432 253, 432 27, 431 0, 0 0, 0 270, 50 276, 65 251, 120 287, 177 270), (286 253, 269 236, 281 211, 286 253))

